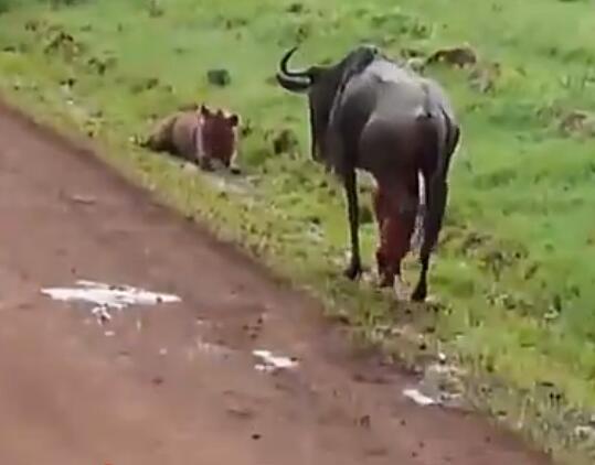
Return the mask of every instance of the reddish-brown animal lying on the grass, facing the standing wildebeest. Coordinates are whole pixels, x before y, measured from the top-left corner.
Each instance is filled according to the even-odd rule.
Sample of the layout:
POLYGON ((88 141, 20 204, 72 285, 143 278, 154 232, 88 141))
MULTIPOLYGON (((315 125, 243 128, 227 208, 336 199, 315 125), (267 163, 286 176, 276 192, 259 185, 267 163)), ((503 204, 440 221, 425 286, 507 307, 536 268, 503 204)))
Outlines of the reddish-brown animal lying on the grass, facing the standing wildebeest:
POLYGON ((205 105, 200 110, 182 110, 160 120, 142 143, 153 151, 164 151, 213 170, 212 161, 230 167, 236 153, 236 128, 240 118, 205 105))

